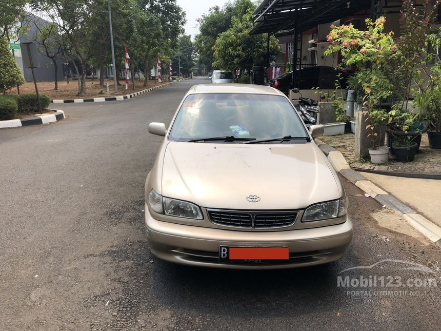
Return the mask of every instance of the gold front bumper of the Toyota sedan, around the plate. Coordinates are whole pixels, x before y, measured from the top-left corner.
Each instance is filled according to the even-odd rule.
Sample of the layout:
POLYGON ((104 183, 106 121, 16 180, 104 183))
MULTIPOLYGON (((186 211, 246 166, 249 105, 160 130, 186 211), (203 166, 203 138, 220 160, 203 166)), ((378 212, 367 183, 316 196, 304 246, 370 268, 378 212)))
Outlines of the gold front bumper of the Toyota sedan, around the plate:
POLYGON ((193 266, 276 269, 310 266, 338 260, 352 239, 352 222, 325 227, 256 232, 234 231, 163 222, 151 217, 145 206, 150 250, 160 259, 193 266), (289 260, 262 263, 218 262, 219 246, 287 246, 289 260))

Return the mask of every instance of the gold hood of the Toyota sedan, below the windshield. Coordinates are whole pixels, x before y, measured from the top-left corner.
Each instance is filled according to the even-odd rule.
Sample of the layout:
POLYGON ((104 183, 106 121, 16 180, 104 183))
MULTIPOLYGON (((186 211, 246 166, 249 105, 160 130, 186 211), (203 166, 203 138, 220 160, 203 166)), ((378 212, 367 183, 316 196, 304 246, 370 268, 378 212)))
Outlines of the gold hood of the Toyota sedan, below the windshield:
POLYGON ((335 172, 311 143, 170 142, 164 154, 163 196, 202 207, 299 209, 338 199, 341 191, 335 172), (249 202, 250 195, 260 200, 249 202))

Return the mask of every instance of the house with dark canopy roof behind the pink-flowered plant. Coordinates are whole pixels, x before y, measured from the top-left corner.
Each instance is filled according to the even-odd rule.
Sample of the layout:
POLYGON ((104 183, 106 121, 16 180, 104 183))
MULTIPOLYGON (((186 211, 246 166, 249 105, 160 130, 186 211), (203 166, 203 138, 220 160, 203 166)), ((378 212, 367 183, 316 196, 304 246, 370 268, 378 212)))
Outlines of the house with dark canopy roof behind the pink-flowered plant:
MULTIPOLYGON (((415 0, 415 7, 423 6, 424 1, 415 0)), ((282 53, 273 64, 268 64, 270 78, 276 72, 272 66, 279 67, 282 74, 287 63, 290 70, 307 66, 336 67, 342 63, 341 57, 324 54, 329 46, 326 36, 331 24, 353 24, 364 29, 366 18, 385 16, 385 32, 393 31, 398 37, 402 4, 400 0, 264 0, 253 13, 255 26, 250 33, 269 33, 279 40, 282 53)), ((441 12, 438 17, 441 18, 441 12)), ((438 23, 432 27, 434 31, 438 23)))

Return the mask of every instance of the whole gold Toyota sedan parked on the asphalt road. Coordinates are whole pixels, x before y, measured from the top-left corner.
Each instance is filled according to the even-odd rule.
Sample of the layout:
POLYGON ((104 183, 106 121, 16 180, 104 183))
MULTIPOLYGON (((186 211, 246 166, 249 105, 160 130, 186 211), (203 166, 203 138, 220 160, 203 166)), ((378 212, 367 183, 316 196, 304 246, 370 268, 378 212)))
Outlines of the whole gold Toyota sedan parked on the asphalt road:
POLYGON ((145 185, 145 223, 158 258, 223 268, 335 261, 352 239, 335 171, 288 98, 268 86, 193 86, 145 185))

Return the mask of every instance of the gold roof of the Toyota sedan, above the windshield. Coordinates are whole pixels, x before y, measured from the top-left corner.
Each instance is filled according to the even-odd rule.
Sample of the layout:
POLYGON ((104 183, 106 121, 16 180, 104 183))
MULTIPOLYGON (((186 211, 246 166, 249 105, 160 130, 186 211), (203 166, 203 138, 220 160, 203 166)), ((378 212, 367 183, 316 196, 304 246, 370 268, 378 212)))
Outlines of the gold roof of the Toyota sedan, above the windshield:
POLYGON ((199 93, 268 94, 285 96, 283 92, 270 86, 252 84, 198 84, 193 85, 186 95, 199 93))

